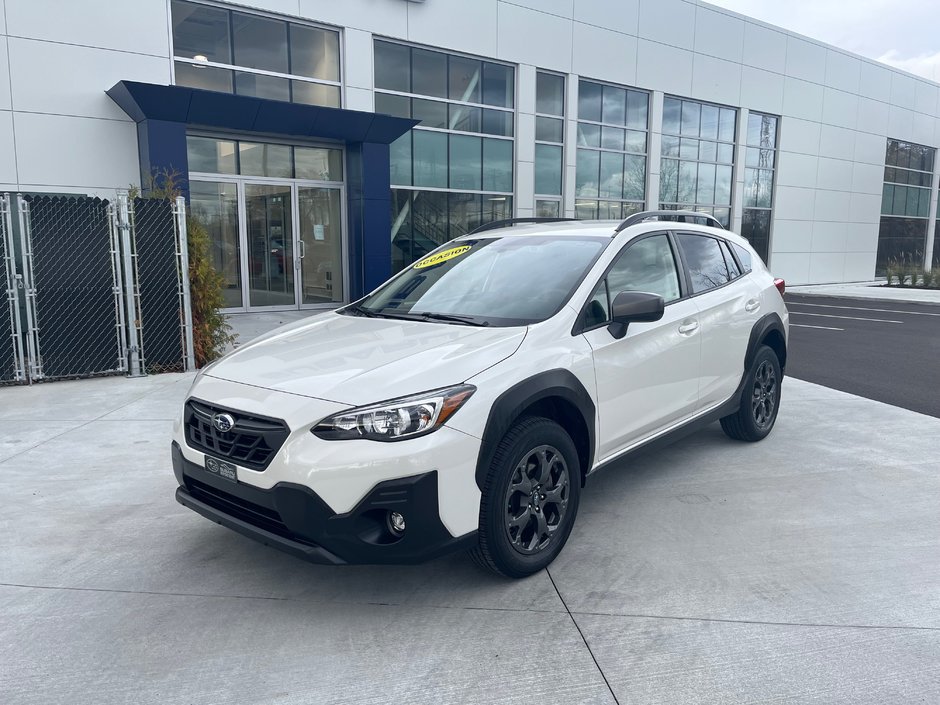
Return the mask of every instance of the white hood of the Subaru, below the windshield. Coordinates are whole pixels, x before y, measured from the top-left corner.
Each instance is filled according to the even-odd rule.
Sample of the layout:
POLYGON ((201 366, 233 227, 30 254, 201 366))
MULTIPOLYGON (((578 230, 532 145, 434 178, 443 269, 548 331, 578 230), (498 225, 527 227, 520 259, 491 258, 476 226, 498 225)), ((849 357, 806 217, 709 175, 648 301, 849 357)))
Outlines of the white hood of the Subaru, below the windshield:
POLYGON ((525 333, 331 312, 252 341, 206 374, 360 406, 460 384, 512 355, 525 333))

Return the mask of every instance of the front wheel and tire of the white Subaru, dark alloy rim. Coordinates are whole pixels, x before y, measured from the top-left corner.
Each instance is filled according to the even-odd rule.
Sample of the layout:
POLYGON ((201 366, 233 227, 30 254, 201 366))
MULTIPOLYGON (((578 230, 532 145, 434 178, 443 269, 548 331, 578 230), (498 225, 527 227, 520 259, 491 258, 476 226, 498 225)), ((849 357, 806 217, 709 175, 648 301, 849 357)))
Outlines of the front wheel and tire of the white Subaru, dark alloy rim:
POLYGON ((571 437, 550 419, 518 421, 486 474, 479 544, 471 557, 508 578, 537 573, 564 547, 580 498, 581 467, 571 437))

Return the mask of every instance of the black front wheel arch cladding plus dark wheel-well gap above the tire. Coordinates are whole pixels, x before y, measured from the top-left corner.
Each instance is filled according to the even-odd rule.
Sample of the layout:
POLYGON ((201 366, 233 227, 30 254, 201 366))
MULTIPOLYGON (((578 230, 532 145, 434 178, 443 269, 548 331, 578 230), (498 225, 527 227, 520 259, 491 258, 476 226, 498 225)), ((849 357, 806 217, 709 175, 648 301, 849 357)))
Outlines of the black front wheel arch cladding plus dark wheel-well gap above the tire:
POLYGON ((581 484, 594 463, 596 412, 591 395, 569 370, 540 372, 518 382, 497 397, 490 409, 477 457, 476 483, 480 490, 496 448, 517 419, 545 416, 571 437, 581 465, 581 484))

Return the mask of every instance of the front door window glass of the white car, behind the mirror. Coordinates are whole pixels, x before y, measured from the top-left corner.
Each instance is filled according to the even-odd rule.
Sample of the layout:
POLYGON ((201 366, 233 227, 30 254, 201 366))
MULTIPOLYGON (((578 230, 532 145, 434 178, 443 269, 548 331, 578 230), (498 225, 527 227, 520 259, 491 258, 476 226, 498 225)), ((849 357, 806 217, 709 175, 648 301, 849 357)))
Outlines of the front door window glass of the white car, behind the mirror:
POLYGON ((610 320, 610 305, 622 291, 645 291, 663 297, 665 303, 680 296, 676 259, 665 235, 653 235, 627 246, 587 304, 584 327, 610 320))

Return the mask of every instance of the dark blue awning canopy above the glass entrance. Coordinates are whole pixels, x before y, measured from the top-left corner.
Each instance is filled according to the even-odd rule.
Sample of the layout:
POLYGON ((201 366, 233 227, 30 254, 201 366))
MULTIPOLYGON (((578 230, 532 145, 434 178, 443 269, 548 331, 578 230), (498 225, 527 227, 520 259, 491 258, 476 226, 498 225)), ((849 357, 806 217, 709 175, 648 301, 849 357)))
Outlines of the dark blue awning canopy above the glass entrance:
POLYGON ((207 91, 119 81, 107 91, 134 122, 159 120, 237 132, 391 144, 417 120, 207 91))

